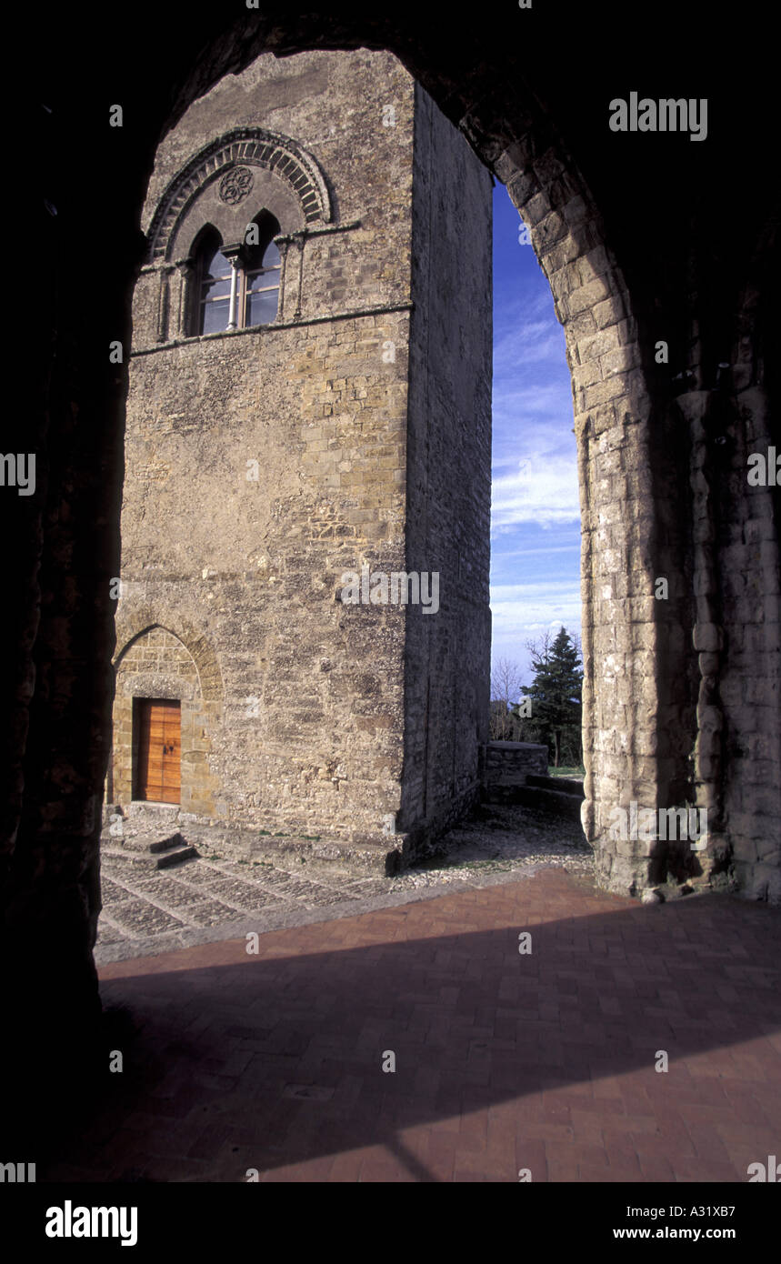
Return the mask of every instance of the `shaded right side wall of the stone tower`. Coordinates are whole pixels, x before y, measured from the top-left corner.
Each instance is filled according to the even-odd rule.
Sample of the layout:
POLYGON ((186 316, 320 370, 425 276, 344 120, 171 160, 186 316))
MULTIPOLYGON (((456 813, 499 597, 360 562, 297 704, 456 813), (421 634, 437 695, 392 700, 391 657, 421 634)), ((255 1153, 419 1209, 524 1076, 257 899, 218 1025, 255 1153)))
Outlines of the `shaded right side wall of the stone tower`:
POLYGON ((407 613, 399 828, 436 834, 479 793, 488 739, 492 182, 416 87, 407 566, 440 611, 407 613))

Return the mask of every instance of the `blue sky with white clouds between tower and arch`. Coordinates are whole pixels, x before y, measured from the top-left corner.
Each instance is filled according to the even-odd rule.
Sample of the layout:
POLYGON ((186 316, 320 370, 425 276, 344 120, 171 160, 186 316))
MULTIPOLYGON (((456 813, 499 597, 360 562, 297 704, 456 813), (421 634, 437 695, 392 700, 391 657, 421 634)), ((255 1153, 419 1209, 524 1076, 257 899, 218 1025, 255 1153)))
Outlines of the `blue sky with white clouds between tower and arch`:
POLYGON ((494 188, 492 659, 531 680, 526 642, 580 635, 580 504, 564 330, 521 219, 494 188))

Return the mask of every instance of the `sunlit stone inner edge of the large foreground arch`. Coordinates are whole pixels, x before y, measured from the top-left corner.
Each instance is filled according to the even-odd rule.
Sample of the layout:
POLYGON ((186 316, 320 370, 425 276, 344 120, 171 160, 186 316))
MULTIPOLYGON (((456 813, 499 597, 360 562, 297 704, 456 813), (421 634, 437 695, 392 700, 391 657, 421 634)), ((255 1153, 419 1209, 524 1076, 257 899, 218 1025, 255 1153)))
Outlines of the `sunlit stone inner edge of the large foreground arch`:
MULTIPOLYGON (((174 118, 186 97, 219 77, 216 63, 225 73, 244 68, 268 47, 286 53, 331 47, 320 34, 293 35, 273 27, 262 37, 253 29, 239 51, 220 47, 209 82, 193 71, 174 118)), ((353 34, 337 40, 342 47, 359 42, 353 34)), ((385 47, 457 118, 485 166, 507 183, 565 329, 584 530, 584 825, 596 847, 603 884, 639 892, 665 876, 663 857, 652 861, 637 839, 613 839, 610 822, 614 809, 629 801, 656 809, 695 796, 687 761, 696 738, 696 685, 685 672, 684 688, 679 681, 671 696, 670 678, 686 657, 689 608, 670 619, 653 598, 660 573, 681 569, 682 541, 670 538, 680 489, 652 451, 658 418, 636 303, 595 198, 540 97, 513 88, 508 124, 495 112, 495 95, 485 99, 468 81, 442 99, 436 73, 421 54, 393 39, 385 47)), ((698 865, 696 872, 701 876, 706 868, 698 865)))

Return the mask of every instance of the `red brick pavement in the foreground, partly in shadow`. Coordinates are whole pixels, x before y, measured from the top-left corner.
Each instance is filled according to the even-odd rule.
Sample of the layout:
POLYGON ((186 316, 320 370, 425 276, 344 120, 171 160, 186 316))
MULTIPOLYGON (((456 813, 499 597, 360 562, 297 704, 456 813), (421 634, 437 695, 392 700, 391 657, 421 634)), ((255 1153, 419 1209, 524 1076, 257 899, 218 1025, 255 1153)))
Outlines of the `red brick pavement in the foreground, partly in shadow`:
POLYGON ((766 906, 556 870, 105 966, 136 1034, 39 1179, 746 1182, 781 1155, 780 976, 766 906))

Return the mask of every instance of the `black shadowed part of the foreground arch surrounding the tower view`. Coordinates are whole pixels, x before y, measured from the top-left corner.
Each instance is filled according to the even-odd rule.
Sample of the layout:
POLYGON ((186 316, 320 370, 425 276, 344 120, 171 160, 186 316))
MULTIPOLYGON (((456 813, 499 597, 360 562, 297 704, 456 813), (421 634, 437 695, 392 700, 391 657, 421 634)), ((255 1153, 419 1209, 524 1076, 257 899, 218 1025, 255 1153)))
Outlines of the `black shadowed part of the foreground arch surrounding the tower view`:
MULTIPOLYGON (((633 59, 634 83, 657 82, 660 66, 667 82, 687 82, 693 47, 700 67, 720 64, 723 29, 703 5, 691 11, 680 5, 670 6, 670 13, 662 9, 655 10, 655 21, 643 28, 642 47, 633 59)), ((42 268, 51 269, 53 262, 68 267, 83 249, 88 228, 92 259, 112 260, 112 265, 101 277, 99 326, 94 287, 62 286, 45 306, 39 340, 44 350, 30 379, 40 383, 38 416, 33 420, 20 412, 18 421, 11 416, 5 440, 8 451, 38 450, 42 489, 40 495, 5 497, 4 502, 13 509, 8 623, 15 646, 8 672, 9 753, 4 761, 10 786, 4 819, 4 976, 15 985, 20 1002, 15 1039, 6 1043, 14 1059, 16 1096, 23 1096, 20 1067, 35 1095, 43 1090, 49 1096, 71 1093, 76 1083, 71 1076, 87 1063, 80 1063, 77 1039, 71 1066, 66 1057, 52 1062, 52 1039, 63 1030, 88 1038, 100 1014, 91 959, 100 906, 99 846, 97 825, 91 822, 110 739, 116 608, 110 578, 119 574, 128 356, 121 365, 110 363, 102 346, 99 351, 99 343, 116 339, 129 346, 130 295, 147 252, 139 230, 140 209, 160 137, 214 83, 244 70, 263 52, 286 56, 313 48, 388 48, 463 126, 487 166, 508 185, 516 205, 524 209, 524 217, 536 225, 532 240, 545 257, 562 320, 590 326, 593 312, 602 320, 604 300, 591 296, 595 288, 609 284, 594 279, 600 249, 609 250, 610 269, 618 260, 629 278, 632 307, 621 327, 626 340, 618 351, 607 353, 617 358, 631 351, 632 310, 646 312, 648 322, 657 326, 658 312, 676 311, 689 301, 694 263, 713 257, 709 221, 718 220, 724 233, 723 216, 713 215, 713 207, 724 202, 724 172, 736 171, 736 154, 739 196, 730 200, 724 241, 729 262, 752 239, 753 217, 768 211, 775 200, 777 172, 767 154, 771 133, 761 120, 773 116, 776 85, 757 39, 763 9, 751 0, 748 9, 757 20, 744 4, 742 23, 729 32, 730 73, 710 85, 711 118, 725 120, 725 125, 714 129, 701 145, 685 137, 615 138, 609 133, 607 100, 613 88, 594 76, 594 67, 605 66, 605 37, 621 29, 624 6, 617 0, 605 0, 589 23, 580 20, 583 6, 572 5, 569 13, 556 5, 546 14, 545 6, 527 13, 503 4, 489 9, 480 21, 466 24, 444 23, 439 10, 421 6, 364 6, 349 14, 332 6, 296 13, 274 6, 238 11, 207 6, 193 9, 183 23, 178 6, 166 11, 159 4, 142 3, 134 9, 133 23, 118 35, 111 57, 104 59, 95 58, 91 38, 91 24, 102 20, 97 6, 85 5, 76 14, 68 6, 44 6, 43 23, 35 10, 37 27, 47 35, 43 40, 40 30, 34 34, 37 68, 47 85, 47 100, 56 106, 45 114, 38 111, 33 120, 38 150, 51 157, 39 164, 40 173, 34 173, 34 179, 40 179, 40 196, 29 221, 39 241, 35 253, 42 268), (578 39, 561 38, 567 18, 579 23, 578 39), (133 119, 131 128, 107 128, 107 102, 116 100, 118 83, 123 85, 125 121, 133 119), (660 191, 660 196, 646 196, 648 190, 660 191), (100 197, 106 192, 111 211, 100 214, 100 197), (576 289, 571 281, 579 270, 576 289)), ((766 47, 770 58, 771 42, 766 47)), ((612 73, 621 78, 621 66, 612 73)), ((615 90, 623 91, 618 85, 615 90)), ((708 300, 695 302, 699 316, 708 315, 710 303, 714 317, 733 317, 728 288, 722 292, 719 287, 708 300)), ((599 334, 591 331, 591 339, 599 334)), ((658 336, 667 336, 663 322, 658 336)), ((571 337, 576 397, 585 387, 583 362, 574 353, 588 337, 589 330, 571 337)), ((698 359, 693 345, 693 372, 698 359)), ((634 392, 633 399, 642 402, 648 384, 636 365, 621 373, 634 392)), ((608 375, 599 383, 604 401, 576 422, 579 439, 585 440, 584 513, 590 512, 598 490, 598 468, 586 450, 589 436, 598 442, 609 425, 627 425, 631 435, 647 428, 638 410, 613 410, 608 375), (614 417, 607 416, 613 412, 614 417)), ((657 402, 653 383, 650 389, 657 402)), ((663 398, 658 406, 665 406, 663 398)), ((645 478, 643 470, 639 475, 637 470, 633 465, 624 471, 628 480, 645 478)), ((636 504, 648 513, 656 514, 660 506, 671 502, 670 490, 656 480, 646 480, 639 492, 642 499, 636 498, 636 504)), ((777 526, 773 531, 777 538, 777 526)), ((589 589, 586 568, 598 551, 599 542, 589 538, 584 547, 589 589)), ((675 560, 686 575, 682 546, 675 560)), ((586 623, 590 621, 589 613, 586 623)), ((685 664, 686 652, 691 650, 676 651, 676 661, 685 664)), ((610 685, 603 670, 609 656, 591 646, 585 627, 584 653, 591 660, 584 712, 591 717, 589 741, 594 742, 613 732, 610 715, 600 727, 594 709, 596 698, 609 712, 610 685)), ((631 667, 639 662, 639 653, 633 648, 631 667)), ((653 647, 642 653, 652 670, 653 647)), ((622 772, 626 785, 633 784, 632 776, 645 781, 647 766, 651 776, 669 777, 671 774, 656 771, 667 760, 665 723, 657 723, 650 707, 651 719, 643 729, 631 672, 619 675, 618 683, 622 680, 632 704, 624 726, 632 750, 626 758, 618 750, 610 757, 617 767, 628 769, 629 779, 622 772)), ((748 762, 743 760, 733 775, 739 779, 748 762)), ((593 780, 589 772, 589 796, 596 793, 593 780)), ((612 875, 608 877, 612 881, 612 875)))

